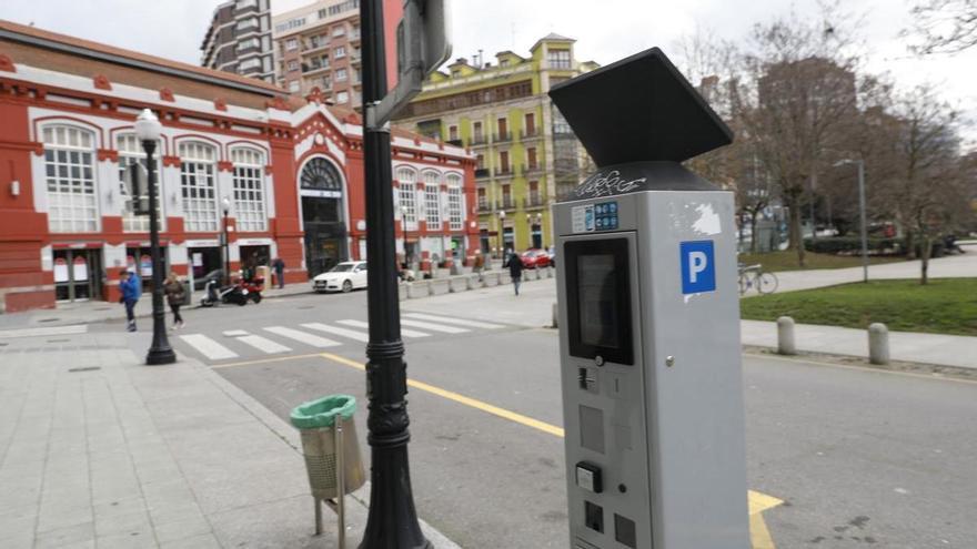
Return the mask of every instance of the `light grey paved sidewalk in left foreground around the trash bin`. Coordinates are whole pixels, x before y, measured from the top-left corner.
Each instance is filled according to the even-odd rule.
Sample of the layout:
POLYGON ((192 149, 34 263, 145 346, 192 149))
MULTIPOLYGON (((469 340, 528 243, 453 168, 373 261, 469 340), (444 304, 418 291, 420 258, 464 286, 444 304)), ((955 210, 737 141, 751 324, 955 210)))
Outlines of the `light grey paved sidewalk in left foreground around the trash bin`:
MULTIPOLYGON (((313 536, 295 429, 200 363, 143 366, 128 337, 149 344, 0 343, 0 547, 336 547, 328 509, 313 536)), ((366 497, 348 500, 348 547, 366 497)))

